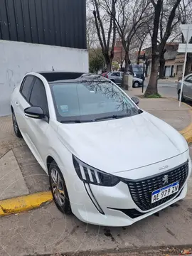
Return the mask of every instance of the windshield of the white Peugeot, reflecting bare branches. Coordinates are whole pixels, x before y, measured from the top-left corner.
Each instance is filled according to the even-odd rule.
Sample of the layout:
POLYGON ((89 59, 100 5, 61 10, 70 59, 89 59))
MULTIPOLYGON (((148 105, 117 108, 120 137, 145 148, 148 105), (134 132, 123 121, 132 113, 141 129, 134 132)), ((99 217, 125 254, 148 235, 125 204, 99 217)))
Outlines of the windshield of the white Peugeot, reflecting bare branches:
POLYGON ((112 82, 80 81, 50 85, 59 122, 96 122, 139 114, 112 82))

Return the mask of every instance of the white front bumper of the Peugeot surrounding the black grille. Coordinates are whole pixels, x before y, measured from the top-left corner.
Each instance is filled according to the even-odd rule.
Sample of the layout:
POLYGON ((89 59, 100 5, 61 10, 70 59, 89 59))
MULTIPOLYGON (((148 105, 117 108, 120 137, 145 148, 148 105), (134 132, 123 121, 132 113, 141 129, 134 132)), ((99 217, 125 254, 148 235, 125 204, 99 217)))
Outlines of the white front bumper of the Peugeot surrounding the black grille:
MULTIPOLYGON (((73 213, 83 222, 105 226, 132 225, 159 210, 170 206, 176 201, 183 199, 187 193, 187 181, 191 174, 191 159, 188 151, 168 159, 166 161, 152 164, 141 169, 117 173, 121 178, 137 180, 148 176, 161 174, 161 166, 169 166, 174 169, 188 160, 188 176, 181 189, 169 201, 149 210, 141 210, 132 199, 127 183, 120 181, 116 186, 104 187, 88 185, 80 181, 78 176, 73 175, 73 186, 68 186, 70 203, 73 213), (159 167, 160 166, 160 167, 159 167), (155 171, 156 170, 156 171, 155 171), (137 214, 130 214, 137 213, 137 214)), ((169 171, 169 169, 167 171, 169 171)))

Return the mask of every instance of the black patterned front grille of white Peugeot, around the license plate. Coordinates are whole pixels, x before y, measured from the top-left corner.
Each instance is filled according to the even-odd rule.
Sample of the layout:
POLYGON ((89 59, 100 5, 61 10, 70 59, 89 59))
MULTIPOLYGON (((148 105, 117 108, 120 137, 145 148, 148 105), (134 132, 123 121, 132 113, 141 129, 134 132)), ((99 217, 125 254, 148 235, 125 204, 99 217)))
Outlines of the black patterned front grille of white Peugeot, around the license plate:
POLYGON ((188 162, 176 167, 176 169, 166 171, 163 174, 158 174, 156 176, 151 176, 137 181, 124 181, 129 187, 134 203, 136 203, 141 210, 150 210, 156 206, 160 206, 162 203, 166 203, 166 201, 169 201, 171 198, 176 196, 176 193, 174 193, 155 203, 151 203, 151 193, 166 186, 163 184, 164 175, 168 175, 169 177, 166 185, 179 181, 178 191, 180 191, 188 176, 188 162))

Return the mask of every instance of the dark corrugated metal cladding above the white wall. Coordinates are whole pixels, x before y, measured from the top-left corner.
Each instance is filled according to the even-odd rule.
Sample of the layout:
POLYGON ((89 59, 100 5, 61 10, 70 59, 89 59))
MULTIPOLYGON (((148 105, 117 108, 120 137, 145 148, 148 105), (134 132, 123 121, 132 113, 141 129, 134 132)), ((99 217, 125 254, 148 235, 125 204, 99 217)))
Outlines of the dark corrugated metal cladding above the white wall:
POLYGON ((85 0, 0 0, 0 40, 86 49, 85 0))

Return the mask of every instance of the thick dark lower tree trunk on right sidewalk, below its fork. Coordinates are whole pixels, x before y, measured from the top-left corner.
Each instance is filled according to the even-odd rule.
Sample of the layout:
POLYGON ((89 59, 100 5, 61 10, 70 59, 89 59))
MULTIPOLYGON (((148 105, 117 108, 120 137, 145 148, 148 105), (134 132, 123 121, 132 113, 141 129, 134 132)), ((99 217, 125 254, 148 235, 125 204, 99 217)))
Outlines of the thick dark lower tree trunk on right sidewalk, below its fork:
POLYGON ((154 53, 152 54, 151 75, 149 78, 149 84, 144 93, 145 97, 148 95, 155 95, 158 93, 158 90, 157 90, 158 69, 159 69, 159 55, 156 55, 156 53, 154 53))

